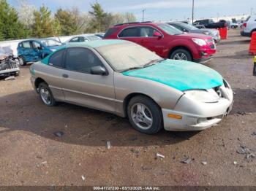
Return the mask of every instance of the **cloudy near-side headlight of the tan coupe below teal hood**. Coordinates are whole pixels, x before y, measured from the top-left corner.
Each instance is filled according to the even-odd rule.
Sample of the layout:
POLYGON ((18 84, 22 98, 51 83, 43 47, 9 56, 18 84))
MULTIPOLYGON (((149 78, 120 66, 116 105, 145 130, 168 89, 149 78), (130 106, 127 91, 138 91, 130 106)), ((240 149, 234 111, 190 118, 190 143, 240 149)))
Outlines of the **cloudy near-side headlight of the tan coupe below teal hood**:
POLYGON ((214 91, 208 92, 206 90, 187 90, 185 94, 196 101, 204 103, 214 103, 219 101, 219 95, 214 91))

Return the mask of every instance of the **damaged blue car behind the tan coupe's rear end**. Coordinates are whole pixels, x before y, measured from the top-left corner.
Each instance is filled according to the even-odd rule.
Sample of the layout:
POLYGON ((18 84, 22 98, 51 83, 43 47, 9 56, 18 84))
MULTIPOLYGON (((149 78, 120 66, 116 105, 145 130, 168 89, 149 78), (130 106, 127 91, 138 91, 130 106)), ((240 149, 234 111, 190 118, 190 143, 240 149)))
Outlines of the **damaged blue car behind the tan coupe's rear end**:
POLYGON ((20 42, 17 47, 20 66, 26 66, 28 62, 40 61, 61 47, 64 47, 64 44, 55 39, 29 39, 20 42))

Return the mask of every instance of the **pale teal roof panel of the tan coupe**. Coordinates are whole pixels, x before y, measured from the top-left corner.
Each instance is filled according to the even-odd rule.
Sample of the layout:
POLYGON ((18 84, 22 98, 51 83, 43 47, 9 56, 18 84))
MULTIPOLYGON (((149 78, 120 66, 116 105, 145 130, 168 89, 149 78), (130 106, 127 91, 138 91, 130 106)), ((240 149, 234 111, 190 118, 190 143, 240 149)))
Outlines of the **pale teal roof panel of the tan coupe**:
POLYGON ((121 44, 121 43, 128 43, 124 40, 97 40, 97 41, 87 41, 87 42, 73 42, 73 43, 67 43, 68 47, 91 47, 91 48, 97 48, 97 47, 104 47, 112 44, 121 44))

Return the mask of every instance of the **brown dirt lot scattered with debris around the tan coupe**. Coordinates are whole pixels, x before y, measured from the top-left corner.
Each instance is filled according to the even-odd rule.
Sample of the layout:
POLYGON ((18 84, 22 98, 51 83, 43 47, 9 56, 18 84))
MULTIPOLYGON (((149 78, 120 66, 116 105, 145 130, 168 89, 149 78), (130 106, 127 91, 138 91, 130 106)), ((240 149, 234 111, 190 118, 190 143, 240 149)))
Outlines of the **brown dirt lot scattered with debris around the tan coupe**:
POLYGON ((196 133, 162 130, 148 136, 112 114, 70 104, 45 106, 32 90, 29 66, 14 81, 1 80, 0 185, 256 186, 256 158, 237 153, 246 146, 256 154, 249 39, 230 31, 217 48, 206 65, 230 82, 236 102, 220 125, 196 133), (56 131, 64 136, 56 137, 56 131), (186 157, 192 162, 181 163, 186 157))

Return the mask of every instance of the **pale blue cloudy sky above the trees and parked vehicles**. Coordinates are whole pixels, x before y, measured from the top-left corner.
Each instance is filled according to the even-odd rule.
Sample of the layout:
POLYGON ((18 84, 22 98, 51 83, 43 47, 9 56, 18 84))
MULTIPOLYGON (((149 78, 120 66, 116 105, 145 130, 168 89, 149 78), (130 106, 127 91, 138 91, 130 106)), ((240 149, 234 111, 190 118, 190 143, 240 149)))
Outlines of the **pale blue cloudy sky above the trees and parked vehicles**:
MULTIPOLYGON (((18 0, 7 0, 17 6, 18 0)), ((88 12, 95 0, 28 0, 36 7, 45 4, 53 12, 56 9, 78 7, 88 12)), ((192 0, 97 0, 108 12, 133 12, 142 19, 142 9, 146 9, 146 20, 184 20, 192 15, 192 0)), ((219 17, 224 15, 249 15, 251 8, 256 13, 256 0, 195 0, 195 17, 219 17)))

